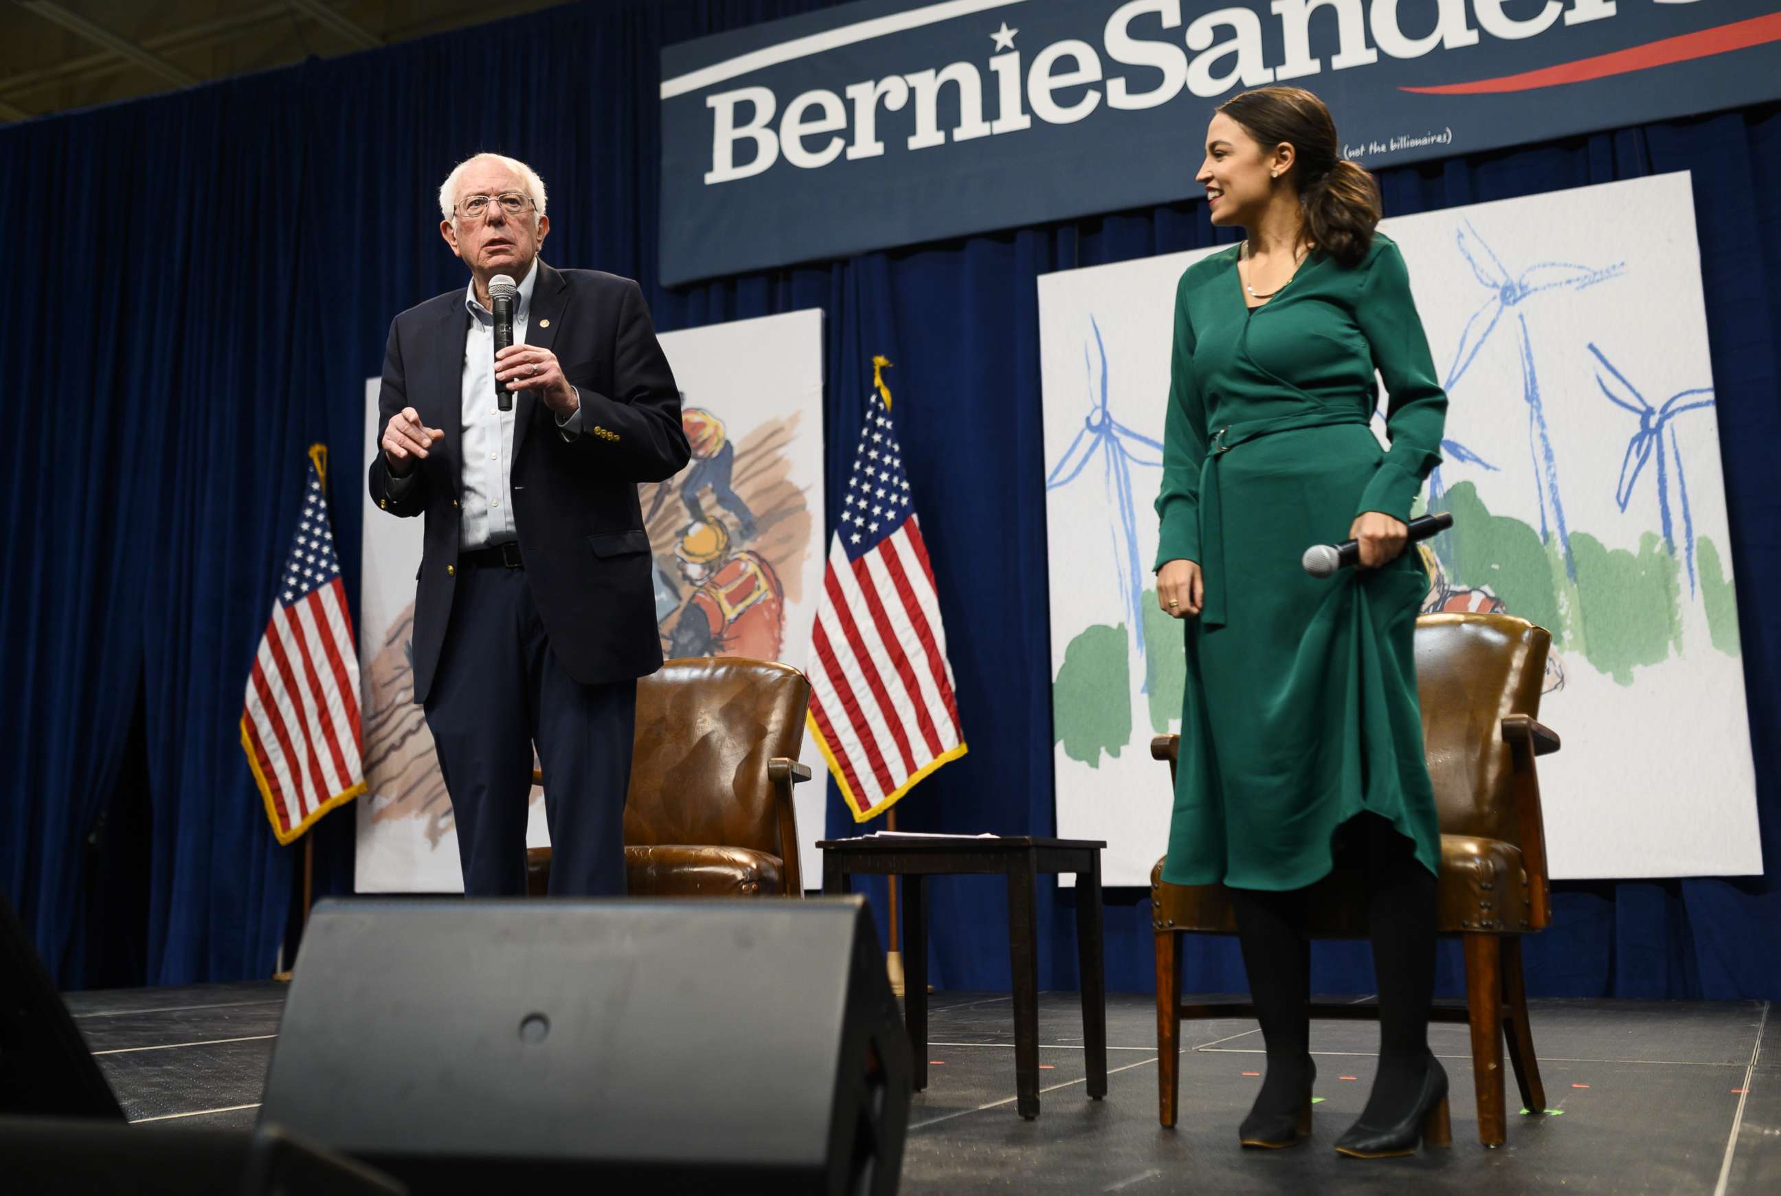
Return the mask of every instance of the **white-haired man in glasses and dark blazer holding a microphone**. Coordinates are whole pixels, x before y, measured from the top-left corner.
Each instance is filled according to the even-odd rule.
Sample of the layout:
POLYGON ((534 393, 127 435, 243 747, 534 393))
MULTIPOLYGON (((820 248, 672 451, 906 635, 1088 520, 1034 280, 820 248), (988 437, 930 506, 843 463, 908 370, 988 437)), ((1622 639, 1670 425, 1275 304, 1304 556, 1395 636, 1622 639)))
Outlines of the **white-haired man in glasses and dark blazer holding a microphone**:
POLYGON ((536 171, 492 153, 440 187, 440 235, 470 285, 390 326, 370 463, 379 508, 426 517, 415 700, 476 897, 525 891, 533 743, 550 891, 625 891, 636 679, 663 658, 638 483, 671 478, 689 453, 638 283, 545 266, 545 198, 536 171), (518 301, 515 342, 497 353, 499 274, 518 301))

